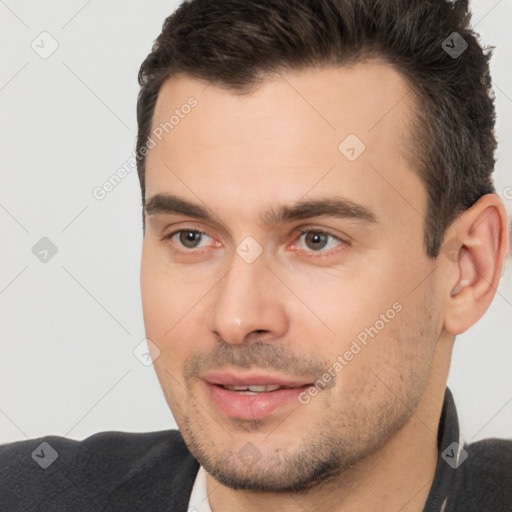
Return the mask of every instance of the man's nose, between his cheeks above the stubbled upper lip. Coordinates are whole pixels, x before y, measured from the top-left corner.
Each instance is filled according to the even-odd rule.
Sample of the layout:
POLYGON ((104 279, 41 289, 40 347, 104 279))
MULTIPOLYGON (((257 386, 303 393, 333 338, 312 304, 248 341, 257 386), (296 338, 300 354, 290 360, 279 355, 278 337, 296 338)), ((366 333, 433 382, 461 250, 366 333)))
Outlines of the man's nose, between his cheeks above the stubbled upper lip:
POLYGON ((235 252, 215 289, 209 328, 227 343, 272 340, 289 328, 286 290, 267 267, 264 253, 247 263, 235 252))

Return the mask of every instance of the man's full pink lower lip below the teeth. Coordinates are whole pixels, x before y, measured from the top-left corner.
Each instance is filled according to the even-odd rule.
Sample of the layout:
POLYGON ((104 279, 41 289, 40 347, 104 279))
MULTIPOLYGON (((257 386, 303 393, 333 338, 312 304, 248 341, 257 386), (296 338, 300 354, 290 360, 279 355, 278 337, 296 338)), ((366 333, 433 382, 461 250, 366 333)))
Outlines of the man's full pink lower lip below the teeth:
POLYGON ((295 401, 299 404, 299 395, 312 384, 299 388, 284 388, 255 395, 243 395, 236 391, 202 381, 211 401, 226 416, 242 420, 259 420, 286 404, 295 401))

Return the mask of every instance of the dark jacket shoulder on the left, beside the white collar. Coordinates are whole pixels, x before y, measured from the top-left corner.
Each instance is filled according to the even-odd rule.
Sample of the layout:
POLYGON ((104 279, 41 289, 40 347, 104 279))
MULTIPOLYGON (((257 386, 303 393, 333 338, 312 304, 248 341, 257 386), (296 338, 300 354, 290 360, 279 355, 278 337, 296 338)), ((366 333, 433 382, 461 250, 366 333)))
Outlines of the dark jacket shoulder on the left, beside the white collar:
POLYGON ((9 443, 0 445, 2 511, 163 508, 191 491, 198 468, 178 430, 9 443))

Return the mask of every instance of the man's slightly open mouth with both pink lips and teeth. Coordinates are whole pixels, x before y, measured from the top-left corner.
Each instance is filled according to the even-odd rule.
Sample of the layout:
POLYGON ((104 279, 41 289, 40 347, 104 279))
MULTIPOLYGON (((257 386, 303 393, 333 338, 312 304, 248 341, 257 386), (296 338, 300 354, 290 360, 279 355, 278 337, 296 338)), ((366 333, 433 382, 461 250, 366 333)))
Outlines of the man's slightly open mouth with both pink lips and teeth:
POLYGON ((202 377, 206 396, 224 416, 241 420, 278 416, 301 406, 300 393, 313 386, 311 381, 291 380, 263 374, 234 375, 209 373, 202 377))

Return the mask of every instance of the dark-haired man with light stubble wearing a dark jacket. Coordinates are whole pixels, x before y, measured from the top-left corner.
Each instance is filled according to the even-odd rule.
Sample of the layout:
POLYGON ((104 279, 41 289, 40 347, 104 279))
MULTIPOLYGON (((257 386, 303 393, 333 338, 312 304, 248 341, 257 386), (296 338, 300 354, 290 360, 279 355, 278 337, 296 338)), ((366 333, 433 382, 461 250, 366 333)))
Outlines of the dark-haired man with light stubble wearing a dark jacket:
POLYGON ((2 510, 512 510, 446 388, 509 246, 489 59, 465 2, 183 3, 137 111, 180 430, 5 445, 2 510))

